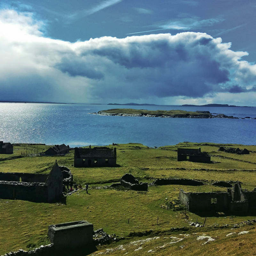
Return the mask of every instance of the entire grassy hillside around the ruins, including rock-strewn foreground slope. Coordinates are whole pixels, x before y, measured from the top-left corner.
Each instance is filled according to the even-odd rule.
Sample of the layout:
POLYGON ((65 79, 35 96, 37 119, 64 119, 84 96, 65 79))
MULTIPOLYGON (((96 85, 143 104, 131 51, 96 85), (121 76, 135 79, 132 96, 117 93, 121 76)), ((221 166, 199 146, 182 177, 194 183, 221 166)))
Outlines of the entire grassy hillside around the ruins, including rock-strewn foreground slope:
MULTIPOLYGON (((14 146, 15 156, 18 156, 18 152, 21 150, 19 147, 14 146)), ((22 150, 24 147, 26 148, 26 145, 23 144, 22 150)), ((115 248, 120 244, 126 248, 126 251, 116 250, 109 252, 109 255, 120 255, 125 252, 129 252, 128 255, 138 255, 139 253, 140 255, 149 255, 149 250, 155 251, 150 255, 168 255, 174 252, 177 255, 182 253, 185 253, 184 255, 209 255, 209 253, 210 255, 219 255, 218 253, 224 254, 226 247, 230 248, 228 255, 250 255, 246 252, 251 248, 250 246, 256 243, 255 230, 250 229, 254 228, 254 225, 241 229, 241 231, 250 231, 243 236, 238 236, 238 230, 230 231, 230 228, 236 223, 255 219, 256 216, 216 214, 207 217, 204 228, 196 229, 189 226, 189 221, 198 219, 199 222, 203 222, 205 216, 187 212, 188 218, 186 218, 184 210, 167 210, 161 205, 164 205, 166 201, 177 199, 180 188, 191 192, 198 192, 199 189, 201 192, 226 191, 226 188, 212 186, 211 183, 215 180, 239 180, 242 182, 242 188, 252 190, 256 187, 256 146, 183 142, 156 149, 135 143, 109 145, 108 147, 117 148, 119 167, 75 168, 73 166, 74 151, 66 156, 54 157, 26 156, 12 159, 8 158, 11 155, 7 155, 8 159, 0 161, 1 172, 49 173, 57 159, 59 165, 65 165, 71 170, 74 180, 77 183, 82 183, 83 188, 87 182, 89 183, 90 193, 87 195, 85 190, 77 190, 67 197, 66 204, 0 199, 0 232, 6 234, 0 236, 0 254, 18 249, 28 250, 28 247, 48 244, 48 225, 84 219, 93 223, 94 229, 103 228, 110 234, 116 233, 116 235, 126 238, 118 243, 98 247, 99 250, 103 250, 102 252, 105 248, 115 248), (220 146, 247 148, 253 152, 250 152, 249 155, 219 152, 217 150, 220 146), (212 156, 212 163, 177 162, 176 150, 178 147, 200 147, 202 151, 206 151, 212 156), (125 173, 131 173, 140 181, 146 182, 152 182, 156 178, 192 178, 203 180, 205 185, 200 188, 182 185, 154 186, 149 187, 147 192, 106 188, 107 185, 117 182, 125 173), (229 229, 222 228, 225 224, 231 225, 229 229), (187 231, 178 231, 178 233, 170 231, 171 228, 181 227, 186 227, 187 231), (142 249, 134 251, 140 245, 138 244, 136 247, 130 243, 145 239, 145 237, 131 238, 130 232, 149 229, 152 229, 153 233, 147 237, 159 236, 160 238, 150 240, 150 245, 149 242, 145 243, 141 245, 142 249), (180 242, 165 245, 162 249, 155 248, 167 242, 174 242, 171 241, 172 239, 168 238, 168 240, 164 237, 182 237, 179 236, 180 232, 189 236, 180 242), (201 244, 205 241, 196 240, 197 235, 193 235, 195 232, 207 233, 211 237, 218 236, 219 238, 202 247, 201 244), (226 237, 226 233, 230 232, 236 232, 236 235, 226 237), (245 244, 248 244, 246 248, 245 244), (181 250, 180 246, 182 245, 185 245, 184 250, 181 250), (233 248, 235 245, 238 246, 237 249, 233 248), (243 252, 240 252, 239 247, 245 248, 241 249, 243 252)), ((5 156, 2 159, 4 158, 5 156)))

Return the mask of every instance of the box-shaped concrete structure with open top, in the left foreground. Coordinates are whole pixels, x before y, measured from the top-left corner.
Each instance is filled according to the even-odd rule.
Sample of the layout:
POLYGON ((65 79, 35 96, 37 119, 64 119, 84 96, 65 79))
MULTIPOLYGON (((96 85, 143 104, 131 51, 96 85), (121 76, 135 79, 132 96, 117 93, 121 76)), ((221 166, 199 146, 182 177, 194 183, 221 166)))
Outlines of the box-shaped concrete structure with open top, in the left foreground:
POLYGON ((85 220, 50 225, 48 236, 54 248, 80 248, 93 245, 93 225, 85 220))

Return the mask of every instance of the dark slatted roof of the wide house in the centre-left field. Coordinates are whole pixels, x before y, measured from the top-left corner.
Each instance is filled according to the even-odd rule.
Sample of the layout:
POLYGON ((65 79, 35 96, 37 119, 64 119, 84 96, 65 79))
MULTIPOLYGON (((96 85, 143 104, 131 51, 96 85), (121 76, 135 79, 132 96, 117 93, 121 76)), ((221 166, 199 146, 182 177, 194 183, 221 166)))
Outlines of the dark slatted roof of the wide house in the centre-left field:
POLYGON ((75 158, 116 158, 116 148, 75 148, 75 158))

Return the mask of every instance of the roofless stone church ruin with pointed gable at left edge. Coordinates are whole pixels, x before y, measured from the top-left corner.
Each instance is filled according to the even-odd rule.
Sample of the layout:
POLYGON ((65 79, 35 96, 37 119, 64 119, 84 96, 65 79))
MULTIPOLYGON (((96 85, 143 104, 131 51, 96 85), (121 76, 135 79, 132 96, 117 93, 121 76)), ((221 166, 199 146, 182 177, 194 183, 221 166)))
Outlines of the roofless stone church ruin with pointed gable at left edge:
POLYGON ((62 198, 63 175, 57 162, 49 174, 0 172, 0 198, 52 203, 62 198))

